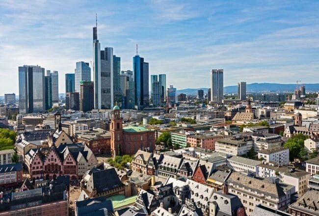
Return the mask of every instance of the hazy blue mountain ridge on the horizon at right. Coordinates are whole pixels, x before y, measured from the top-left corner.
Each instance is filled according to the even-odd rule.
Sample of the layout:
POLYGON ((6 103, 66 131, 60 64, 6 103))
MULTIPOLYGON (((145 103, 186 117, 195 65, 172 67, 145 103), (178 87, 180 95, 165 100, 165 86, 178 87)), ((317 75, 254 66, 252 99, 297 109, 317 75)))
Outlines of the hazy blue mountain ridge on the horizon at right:
MULTIPOLYGON (((305 83, 306 91, 319 91, 319 83, 305 83)), ((247 84, 247 92, 283 92, 283 91, 293 91, 296 88, 296 84, 281 84, 281 83, 251 83, 247 84)), ((197 90, 203 89, 207 93, 208 88, 186 88, 178 89, 177 94, 197 94, 197 90)), ((224 93, 236 93, 237 85, 230 85, 224 87, 224 93)))

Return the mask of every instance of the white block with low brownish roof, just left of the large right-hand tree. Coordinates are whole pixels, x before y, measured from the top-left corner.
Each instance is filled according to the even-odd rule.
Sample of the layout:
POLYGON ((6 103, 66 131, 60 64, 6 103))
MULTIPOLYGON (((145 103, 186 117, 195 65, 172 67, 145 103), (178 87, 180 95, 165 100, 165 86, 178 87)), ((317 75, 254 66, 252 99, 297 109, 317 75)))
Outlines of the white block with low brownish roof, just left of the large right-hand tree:
POLYGON ((258 158, 264 158, 266 162, 276 162, 278 165, 289 164, 289 148, 274 147, 258 152, 258 158))

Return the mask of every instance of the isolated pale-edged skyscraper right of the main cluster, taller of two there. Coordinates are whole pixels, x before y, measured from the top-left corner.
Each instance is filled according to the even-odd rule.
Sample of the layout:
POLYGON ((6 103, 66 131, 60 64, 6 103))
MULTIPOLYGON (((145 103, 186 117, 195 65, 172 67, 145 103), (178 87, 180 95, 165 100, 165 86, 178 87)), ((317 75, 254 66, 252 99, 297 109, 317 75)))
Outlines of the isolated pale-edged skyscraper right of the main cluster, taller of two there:
POLYGON ((211 70, 211 101, 220 102, 224 95, 223 69, 211 70))

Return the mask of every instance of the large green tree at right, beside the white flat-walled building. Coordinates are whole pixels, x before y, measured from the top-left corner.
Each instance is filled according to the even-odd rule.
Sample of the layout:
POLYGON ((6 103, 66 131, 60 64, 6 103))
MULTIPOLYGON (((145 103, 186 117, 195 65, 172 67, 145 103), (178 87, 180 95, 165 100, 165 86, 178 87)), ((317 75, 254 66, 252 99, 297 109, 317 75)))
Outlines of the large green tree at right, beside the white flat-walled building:
POLYGON ((289 159, 293 161, 295 158, 298 159, 300 156, 303 157, 304 152, 301 150, 304 149, 304 141, 307 139, 307 136, 303 134, 297 134, 288 139, 284 144, 284 147, 289 148, 289 159))

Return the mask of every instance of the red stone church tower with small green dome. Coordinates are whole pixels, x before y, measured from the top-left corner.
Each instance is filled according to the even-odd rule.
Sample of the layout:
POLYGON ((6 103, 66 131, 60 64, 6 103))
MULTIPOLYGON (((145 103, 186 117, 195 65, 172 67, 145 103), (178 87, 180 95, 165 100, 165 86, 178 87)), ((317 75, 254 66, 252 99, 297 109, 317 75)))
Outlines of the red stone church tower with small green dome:
POLYGON ((113 113, 110 118, 110 132, 111 132, 111 154, 114 158, 117 155, 123 154, 123 126, 120 114, 120 108, 116 105, 113 108, 113 113))

